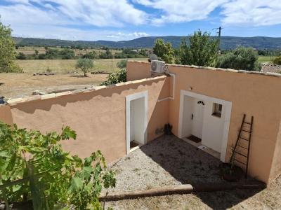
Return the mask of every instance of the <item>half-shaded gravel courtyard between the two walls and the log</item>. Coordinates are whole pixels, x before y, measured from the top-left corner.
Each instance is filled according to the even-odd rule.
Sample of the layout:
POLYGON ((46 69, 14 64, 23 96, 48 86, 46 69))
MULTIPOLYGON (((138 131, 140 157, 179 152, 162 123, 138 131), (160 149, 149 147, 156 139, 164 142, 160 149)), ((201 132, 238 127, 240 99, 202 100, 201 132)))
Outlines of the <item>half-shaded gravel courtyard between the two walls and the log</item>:
POLYGON ((110 165, 117 173, 117 186, 110 191, 226 183, 219 174, 220 164, 220 160, 175 136, 163 136, 110 165))

